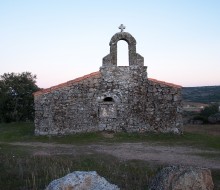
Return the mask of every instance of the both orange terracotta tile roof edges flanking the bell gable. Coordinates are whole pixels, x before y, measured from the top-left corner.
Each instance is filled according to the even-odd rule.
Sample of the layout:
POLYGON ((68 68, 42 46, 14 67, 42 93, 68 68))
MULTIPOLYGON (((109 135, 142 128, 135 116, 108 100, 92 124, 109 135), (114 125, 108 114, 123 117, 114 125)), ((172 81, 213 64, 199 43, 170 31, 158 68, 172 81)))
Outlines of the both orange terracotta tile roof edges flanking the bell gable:
MULTIPOLYGON (((99 76, 99 75, 100 75, 99 71, 93 72, 93 73, 90 73, 88 75, 84 75, 82 77, 79 77, 79 78, 76 78, 76 79, 73 79, 73 80, 70 80, 70 81, 58 84, 56 86, 52 86, 50 88, 45 88, 45 89, 37 91, 37 92, 35 92, 33 94, 34 94, 34 96, 38 96, 38 95, 41 95, 41 94, 47 94, 47 93, 50 93, 50 92, 52 92, 54 90, 58 90, 60 88, 67 87, 67 86, 70 86, 72 84, 76 84, 76 83, 78 83, 80 81, 83 81, 85 79, 88 79, 90 77, 99 76)), ((182 86, 179 86, 179 85, 176 85, 176 84, 172 84, 172 83, 167 83, 165 81, 159 81, 159 80, 152 79, 152 78, 148 78, 148 80, 150 80, 150 81, 152 81, 154 83, 167 85, 167 86, 170 86, 170 87, 173 87, 173 88, 182 88, 182 86)))

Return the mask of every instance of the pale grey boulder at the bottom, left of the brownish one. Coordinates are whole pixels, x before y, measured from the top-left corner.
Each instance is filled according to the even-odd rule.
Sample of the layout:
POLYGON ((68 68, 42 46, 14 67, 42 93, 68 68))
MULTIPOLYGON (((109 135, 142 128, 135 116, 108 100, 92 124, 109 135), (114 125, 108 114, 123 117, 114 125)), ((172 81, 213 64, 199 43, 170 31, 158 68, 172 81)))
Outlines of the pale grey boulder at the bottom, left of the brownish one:
POLYGON ((46 190, 119 190, 95 171, 76 171, 52 181, 46 190))

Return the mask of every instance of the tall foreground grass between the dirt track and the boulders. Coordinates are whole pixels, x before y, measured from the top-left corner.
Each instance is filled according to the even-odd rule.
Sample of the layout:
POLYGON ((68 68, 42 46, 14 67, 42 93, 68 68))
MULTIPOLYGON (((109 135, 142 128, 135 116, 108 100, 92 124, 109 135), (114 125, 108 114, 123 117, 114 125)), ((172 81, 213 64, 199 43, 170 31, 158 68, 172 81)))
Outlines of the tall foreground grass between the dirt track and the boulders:
POLYGON ((0 187, 4 190, 43 190, 54 179, 73 171, 97 171, 121 189, 147 189, 160 169, 142 161, 120 161, 103 154, 81 156, 31 156, 17 147, 1 145, 0 187))

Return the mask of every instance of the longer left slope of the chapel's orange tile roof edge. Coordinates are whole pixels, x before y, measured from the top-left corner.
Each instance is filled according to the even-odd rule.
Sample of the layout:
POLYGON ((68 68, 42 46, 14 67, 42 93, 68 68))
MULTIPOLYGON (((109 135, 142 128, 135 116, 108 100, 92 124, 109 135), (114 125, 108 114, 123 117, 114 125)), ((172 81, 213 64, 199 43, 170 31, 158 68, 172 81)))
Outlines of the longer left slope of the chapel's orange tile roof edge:
POLYGON ((41 94, 47 94, 47 93, 52 92, 54 90, 58 90, 60 88, 67 87, 67 86, 70 86, 72 84, 76 84, 76 83, 78 83, 80 81, 83 81, 85 79, 88 79, 88 78, 94 77, 94 76, 98 76, 98 75, 100 75, 99 71, 98 72, 93 72, 93 73, 90 73, 88 75, 84 75, 82 77, 79 77, 79 78, 76 78, 76 79, 73 79, 73 80, 70 80, 70 81, 58 84, 56 86, 52 86, 50 88, 45 88, 45 89, 37 91, 37 92, 35 92, 33 94, 34 94, 34 96, 38 96, 38 95, 41 95, 41 94))

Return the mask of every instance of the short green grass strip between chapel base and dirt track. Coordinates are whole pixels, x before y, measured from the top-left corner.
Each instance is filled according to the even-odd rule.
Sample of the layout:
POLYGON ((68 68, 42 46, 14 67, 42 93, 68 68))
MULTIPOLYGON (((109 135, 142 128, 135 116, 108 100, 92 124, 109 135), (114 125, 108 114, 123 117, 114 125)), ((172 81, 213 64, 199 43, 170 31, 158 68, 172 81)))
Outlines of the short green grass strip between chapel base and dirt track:
MULTIPOLYGON (((203 130, 205 126, 203 127, 203 130)), ((209 126, 208 126, 209 127, 209 126)), ((208 130, 208 129, 207 129, 208 130)), ((81 133, 66 136, 35 136, 33 123, 0 124, 0 142, 52 142, 64 144, 153 142, 163 145, 182 145, 220 150, 220 136, 206 132, 185 132, 183 135, 162 133, 81 133)))

